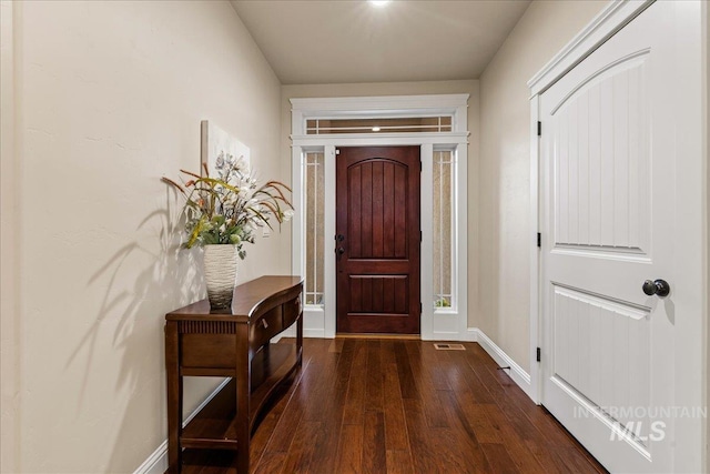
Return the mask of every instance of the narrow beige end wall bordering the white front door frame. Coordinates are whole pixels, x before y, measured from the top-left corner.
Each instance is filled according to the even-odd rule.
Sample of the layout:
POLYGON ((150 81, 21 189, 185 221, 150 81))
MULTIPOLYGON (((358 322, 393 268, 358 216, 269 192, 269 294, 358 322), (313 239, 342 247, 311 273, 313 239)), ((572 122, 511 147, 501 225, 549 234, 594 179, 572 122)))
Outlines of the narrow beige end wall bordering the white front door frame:
MULTIPOLYGON (((476 203, 478 193, 479 101, 478 81, 377 82, 353 84, 301 84, 281 89, 281 154, 284 167, 291 167, 291 102, 294 98, 377 97, 468 93, 468 200, 476 203)), ((477 325, 478 208, 468 205, 468 325, 477 325)))

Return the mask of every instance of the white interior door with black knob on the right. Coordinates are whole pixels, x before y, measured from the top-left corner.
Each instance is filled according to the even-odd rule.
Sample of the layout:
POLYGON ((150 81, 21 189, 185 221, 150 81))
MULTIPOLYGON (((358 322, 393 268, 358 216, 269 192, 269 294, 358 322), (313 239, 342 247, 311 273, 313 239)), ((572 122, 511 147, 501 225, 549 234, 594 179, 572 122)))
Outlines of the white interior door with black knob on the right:
MULTIPOLYGON (((676 373, 677 319, 699 315, 677 314, 694 290, 674 285, 700 269, 679 255, 700 249, 677 229, 700 218, 683 214, 679 192, 672 3, 649 7, 540 95, 541 399, 612 472, 676 472, 678 411, 692 410, 678 403, 694 389, 676 373), (668 296, 642 291, 657 279, 668 296)), ((684 363, 700 372, 700 357, 684 363)))

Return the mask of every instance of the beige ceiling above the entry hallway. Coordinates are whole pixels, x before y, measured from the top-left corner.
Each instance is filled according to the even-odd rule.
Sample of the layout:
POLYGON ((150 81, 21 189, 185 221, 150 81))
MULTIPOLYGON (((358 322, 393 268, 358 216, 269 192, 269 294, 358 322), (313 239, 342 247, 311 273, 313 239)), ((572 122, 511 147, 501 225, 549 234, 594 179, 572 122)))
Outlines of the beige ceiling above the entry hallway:
POLYGON ((283 84, 476 79, 528 0, 232 0, 283 84))

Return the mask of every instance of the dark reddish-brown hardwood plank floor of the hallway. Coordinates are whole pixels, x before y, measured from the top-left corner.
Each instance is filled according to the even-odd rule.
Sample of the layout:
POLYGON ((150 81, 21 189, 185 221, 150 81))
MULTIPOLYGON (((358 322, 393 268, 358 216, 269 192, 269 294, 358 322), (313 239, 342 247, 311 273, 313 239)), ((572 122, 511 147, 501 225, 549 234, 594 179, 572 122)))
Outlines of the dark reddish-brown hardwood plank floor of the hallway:
MULTIPOLYGON (((304 341, 303 369, 253 435, 252 473, 600 473, 476 343, 304 341)), ((183 472, 235 473, 230 452, 183 472)))

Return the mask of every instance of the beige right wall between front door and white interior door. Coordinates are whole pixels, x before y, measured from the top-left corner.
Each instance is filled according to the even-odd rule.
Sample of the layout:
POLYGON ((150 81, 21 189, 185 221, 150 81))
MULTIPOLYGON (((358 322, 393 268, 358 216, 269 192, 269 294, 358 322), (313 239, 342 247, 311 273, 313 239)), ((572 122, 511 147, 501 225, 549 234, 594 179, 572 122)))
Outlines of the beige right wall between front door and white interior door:
POLYGON ((535 1, 480 78, 479 327, 529 370, 530 103, 526 82, 606 1, 535 1))

